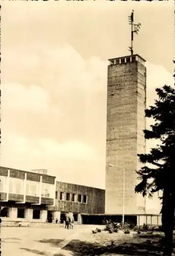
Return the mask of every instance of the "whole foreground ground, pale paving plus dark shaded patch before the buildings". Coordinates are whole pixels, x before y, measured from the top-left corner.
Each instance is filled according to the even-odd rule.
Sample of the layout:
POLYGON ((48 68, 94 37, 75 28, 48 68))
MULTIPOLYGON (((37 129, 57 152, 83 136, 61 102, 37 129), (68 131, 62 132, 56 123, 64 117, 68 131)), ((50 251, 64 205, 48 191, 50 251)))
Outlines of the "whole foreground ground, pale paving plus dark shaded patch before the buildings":
MULTIPOLYGON (((1 227, 2 255, 21 256, 158 256, 161 255, 162 233, 124 234, 102 231, 97 226, 75 225, 65 229, 59 225, 41 227, 1 227)), ((98 226, 99 228, 99 226, 98 226)), ((100 228, 104 228, 101 226, 100 228)))

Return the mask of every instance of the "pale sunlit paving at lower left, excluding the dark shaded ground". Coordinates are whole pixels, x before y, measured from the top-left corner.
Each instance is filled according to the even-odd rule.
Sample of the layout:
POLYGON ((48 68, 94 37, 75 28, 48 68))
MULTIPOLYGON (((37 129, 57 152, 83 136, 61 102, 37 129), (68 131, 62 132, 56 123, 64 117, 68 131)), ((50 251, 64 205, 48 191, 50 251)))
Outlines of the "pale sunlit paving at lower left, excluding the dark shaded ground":
MULTIPOLYGON (((49 225, 49 224, 48 224, 49 225)), ((94 226, 75 225, 73 229, 61 227, 2 227, 2 255, 72 255, 62 250, 70 241, 81 239, 94 226)))

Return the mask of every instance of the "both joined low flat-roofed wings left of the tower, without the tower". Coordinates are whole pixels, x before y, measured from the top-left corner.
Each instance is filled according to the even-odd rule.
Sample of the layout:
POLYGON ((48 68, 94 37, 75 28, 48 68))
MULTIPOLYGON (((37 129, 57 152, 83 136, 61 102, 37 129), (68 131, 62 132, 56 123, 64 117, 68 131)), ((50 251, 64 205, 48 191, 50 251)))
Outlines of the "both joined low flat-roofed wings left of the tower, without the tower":
POLYGON ((0 167, 0 206, 3 222, 53 221, 73 212, 104 214, 105 190, 56 181, 56 177, 0 167))

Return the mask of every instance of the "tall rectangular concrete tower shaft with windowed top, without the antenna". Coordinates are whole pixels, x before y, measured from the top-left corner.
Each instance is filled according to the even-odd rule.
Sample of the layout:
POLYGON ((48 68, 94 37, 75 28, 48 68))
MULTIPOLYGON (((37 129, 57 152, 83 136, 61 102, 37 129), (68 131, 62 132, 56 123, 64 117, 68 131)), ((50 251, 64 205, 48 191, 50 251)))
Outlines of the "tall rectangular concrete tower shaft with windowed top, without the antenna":
POLYGON ((135 54, 109 61, 105 213, 145 214, 145 200, 134 190, 137 154, 145 151, 145 60, 135 54))

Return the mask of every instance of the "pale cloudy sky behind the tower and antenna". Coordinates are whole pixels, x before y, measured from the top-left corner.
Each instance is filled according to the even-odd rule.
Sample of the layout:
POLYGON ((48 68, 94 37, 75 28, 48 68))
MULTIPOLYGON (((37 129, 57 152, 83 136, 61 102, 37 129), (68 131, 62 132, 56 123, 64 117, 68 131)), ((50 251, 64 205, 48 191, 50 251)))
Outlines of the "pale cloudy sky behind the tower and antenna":
POLYGON ((105 187, 107 59, 130 54, 132 9, 150 105, 173 84, 173 1, 2 2, 1 165, 105 187))

